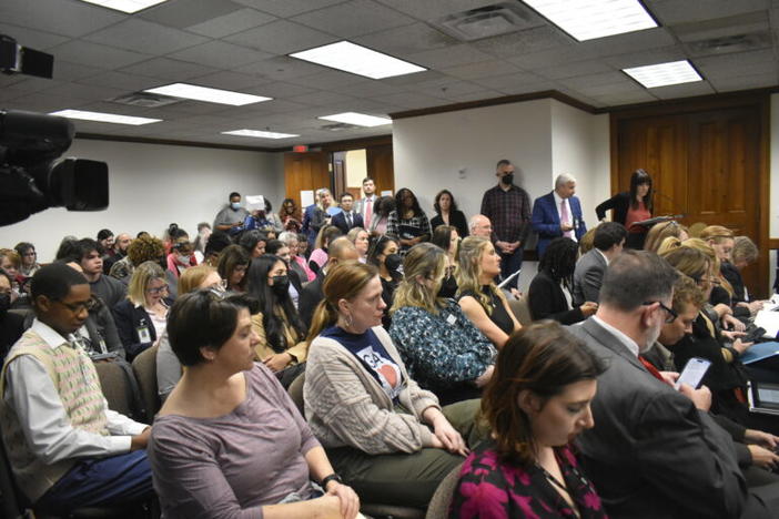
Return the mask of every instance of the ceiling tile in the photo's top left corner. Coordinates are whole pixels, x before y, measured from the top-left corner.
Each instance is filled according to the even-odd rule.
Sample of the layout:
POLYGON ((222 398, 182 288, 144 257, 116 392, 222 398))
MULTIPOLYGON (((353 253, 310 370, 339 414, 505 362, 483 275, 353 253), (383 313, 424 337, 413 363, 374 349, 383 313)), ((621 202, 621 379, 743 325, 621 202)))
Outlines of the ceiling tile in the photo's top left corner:
POLYGON ((82 37, 124 20, 117 11, 62 0, 2 0, 0 20, 39 31, 82 37))

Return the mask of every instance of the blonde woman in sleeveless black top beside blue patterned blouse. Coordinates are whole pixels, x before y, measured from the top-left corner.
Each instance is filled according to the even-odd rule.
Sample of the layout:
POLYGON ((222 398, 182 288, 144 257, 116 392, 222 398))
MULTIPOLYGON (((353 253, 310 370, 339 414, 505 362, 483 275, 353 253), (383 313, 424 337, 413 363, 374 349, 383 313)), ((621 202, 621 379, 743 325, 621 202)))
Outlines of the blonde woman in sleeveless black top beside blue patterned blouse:
POLYGON ((500 255, 483 236, 468 236, 459 244, 457 286, 459 307, 465 316, 496 348, 522 328, 506 296, 495 285, 500 273, 500 255))

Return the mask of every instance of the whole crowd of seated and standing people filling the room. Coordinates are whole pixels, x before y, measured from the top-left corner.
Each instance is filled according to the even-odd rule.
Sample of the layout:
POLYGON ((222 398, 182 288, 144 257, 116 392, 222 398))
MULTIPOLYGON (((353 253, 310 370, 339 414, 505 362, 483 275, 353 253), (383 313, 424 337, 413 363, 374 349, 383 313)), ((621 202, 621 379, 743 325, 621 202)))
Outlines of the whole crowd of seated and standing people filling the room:
POLYGON ((358 200, 323 187, 277 213, 230 193, 194 240, 100 230, 47 264, 0 248, 19 488, 43 513, 352 519, 425 509, 457 470, 456 518, 779 517, 779 420, 750 413, 739 360, 755 244, 646 224, 644 170, 589 231, 574 176, 532 203, 509 161, 495 174, 471 218, 448 190, 428 218, 368 177, 358 200), (95 368, 144 352, 153 424, 110 410, 95 368), (702 385, 675 387, 691 358, 702 385))

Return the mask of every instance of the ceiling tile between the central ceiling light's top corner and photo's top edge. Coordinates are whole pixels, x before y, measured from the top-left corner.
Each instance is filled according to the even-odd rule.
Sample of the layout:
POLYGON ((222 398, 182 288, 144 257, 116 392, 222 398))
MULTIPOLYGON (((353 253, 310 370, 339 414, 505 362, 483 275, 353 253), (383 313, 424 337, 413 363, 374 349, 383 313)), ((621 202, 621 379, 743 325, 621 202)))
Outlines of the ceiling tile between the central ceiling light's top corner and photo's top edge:
POLYGON ((415 20, 372 0, 352 0, 300 14, 292 21, 342 38, 352 38, 398 26, 407 26, 415 20))

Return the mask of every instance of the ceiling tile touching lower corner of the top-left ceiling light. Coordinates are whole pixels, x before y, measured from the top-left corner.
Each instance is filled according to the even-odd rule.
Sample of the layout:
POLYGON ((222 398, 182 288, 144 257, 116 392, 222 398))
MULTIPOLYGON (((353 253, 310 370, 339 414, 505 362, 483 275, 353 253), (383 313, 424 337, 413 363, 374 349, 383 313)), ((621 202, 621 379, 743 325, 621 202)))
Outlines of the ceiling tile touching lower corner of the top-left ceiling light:
POLYGON ((208 39, 189 32, 171 29, 138 18, 85 37, 87 40, 150 54, 166 54, 186 47, 205 43, 208 39))

